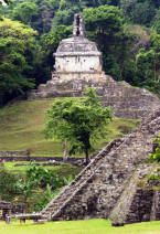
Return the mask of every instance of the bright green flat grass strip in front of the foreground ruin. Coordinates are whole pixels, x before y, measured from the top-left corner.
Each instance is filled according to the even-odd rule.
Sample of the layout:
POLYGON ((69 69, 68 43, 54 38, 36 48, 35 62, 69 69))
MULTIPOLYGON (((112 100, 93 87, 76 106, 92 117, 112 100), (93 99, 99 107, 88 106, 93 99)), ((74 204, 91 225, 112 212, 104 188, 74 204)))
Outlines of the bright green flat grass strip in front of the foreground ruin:
POLYGON ((106 220, 50 222, 33 225, 31 222, 4 224, 0 222, 2 234, 160 234, 160 222, 137 223, 124 227, 111 227, 106 220))

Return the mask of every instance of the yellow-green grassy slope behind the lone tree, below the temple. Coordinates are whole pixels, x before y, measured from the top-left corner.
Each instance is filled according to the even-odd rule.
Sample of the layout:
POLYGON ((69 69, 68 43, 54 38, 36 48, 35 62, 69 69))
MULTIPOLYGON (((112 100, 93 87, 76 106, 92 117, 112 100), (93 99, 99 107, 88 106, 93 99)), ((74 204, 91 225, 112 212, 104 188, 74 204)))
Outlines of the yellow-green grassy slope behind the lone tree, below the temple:
MULTIPOLYGON (((34 156, 62 156, 62 143, 45 140, 42 132, 44 109, 53 100, 25 100, 0 108, 0 150, 28 149, 34 156)), ((97 142, 95 148, 135 129, 137 124, 137 120, 115 118, 108 127, 107 140, 97 142)))

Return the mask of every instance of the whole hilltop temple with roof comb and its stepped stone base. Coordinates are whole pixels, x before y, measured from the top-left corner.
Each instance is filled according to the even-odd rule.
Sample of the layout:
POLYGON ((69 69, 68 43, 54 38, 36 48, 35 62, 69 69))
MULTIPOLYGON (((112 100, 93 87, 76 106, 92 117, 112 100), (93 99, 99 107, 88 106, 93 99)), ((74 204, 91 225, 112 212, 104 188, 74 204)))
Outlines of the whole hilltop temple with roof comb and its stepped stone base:
POLYGON ((143 118, 160 108, 160 100, 146 89, 115 82, 102 71, 100 52, 86 39, 85 23, 75 14, 73 38, 62 40, 55 56, 52 79, 29 94, 29 98, 82 96, 86 86, 97 88, 105 106, 124 118, 143 118))

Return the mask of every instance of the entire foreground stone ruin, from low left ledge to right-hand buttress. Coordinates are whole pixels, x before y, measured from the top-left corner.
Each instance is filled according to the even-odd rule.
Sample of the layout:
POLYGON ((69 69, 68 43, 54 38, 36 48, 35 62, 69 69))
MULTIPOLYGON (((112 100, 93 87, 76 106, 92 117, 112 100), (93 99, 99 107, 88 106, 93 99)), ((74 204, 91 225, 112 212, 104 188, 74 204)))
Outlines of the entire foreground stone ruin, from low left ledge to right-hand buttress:
POLYGON ((40 213, 15 217, 45 221, 110 217, 117 225, 159 220, 160 192, 140 188, 137 182, 149 172, 145 161, 159 132, 160 109, 143 120, 138 130, 103 148, 40 213))

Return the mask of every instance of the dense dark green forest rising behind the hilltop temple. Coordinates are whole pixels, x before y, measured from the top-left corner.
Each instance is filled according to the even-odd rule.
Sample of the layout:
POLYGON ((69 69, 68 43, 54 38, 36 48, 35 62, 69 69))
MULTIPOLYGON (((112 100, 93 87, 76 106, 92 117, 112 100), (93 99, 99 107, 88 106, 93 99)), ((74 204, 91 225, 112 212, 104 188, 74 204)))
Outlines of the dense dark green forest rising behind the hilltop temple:
POLYGON ((3 31, 2 24, 10 22, 6 39, 0 35, 1 105, 50 78, 54 64, 52 54, 62 39, 72 35, 76 12, 83 12, 87 35, 103 52, 107 74, 160 95, 159 0, 12 0, 8 6, 0 4, 1 20, 6 17, 0 31, 3 31), (15 24, 19 32, 14 30, 15 24), (14 38, 17 41, 15 33, 21 34, 24 29, 31 33, 21 49, 15 46, 14 38), (11 31, 14 36, 10 35, 11 31), (10 56, 12 52, 19 62, 10 56))

